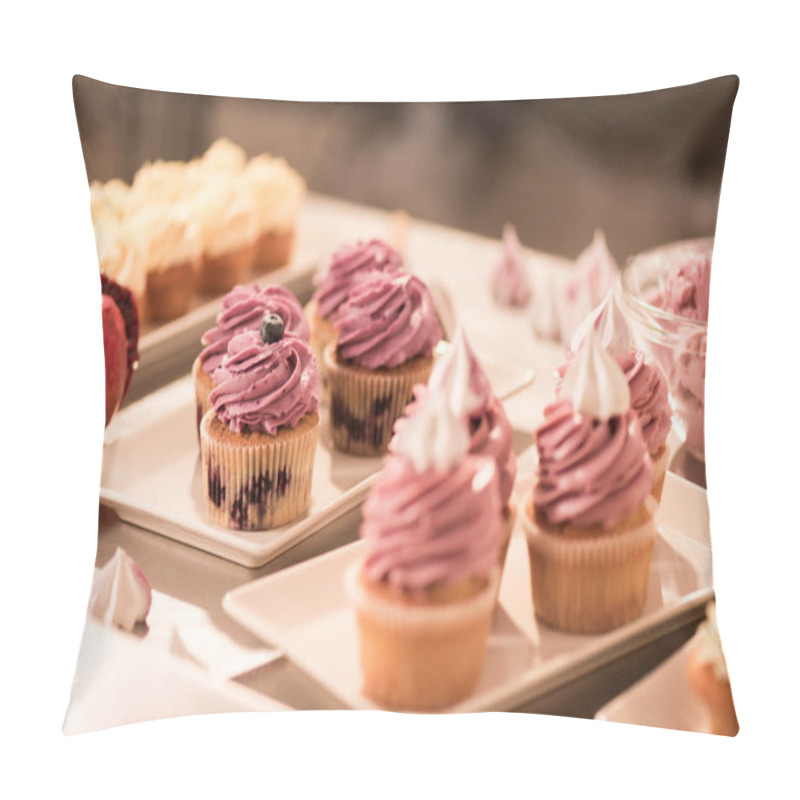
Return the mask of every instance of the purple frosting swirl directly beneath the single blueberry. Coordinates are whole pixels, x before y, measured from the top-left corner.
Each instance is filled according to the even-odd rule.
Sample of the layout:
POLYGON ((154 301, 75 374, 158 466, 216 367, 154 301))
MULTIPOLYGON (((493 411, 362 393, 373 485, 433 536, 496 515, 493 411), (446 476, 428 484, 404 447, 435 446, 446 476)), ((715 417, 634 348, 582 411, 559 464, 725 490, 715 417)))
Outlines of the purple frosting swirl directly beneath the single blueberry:
POLYGON ((257 331, 240 333, 230 340, 212 377, 211 405, 234 433, 274 436, 279 428, 295 427, 319 405, 317 361, 296 336, 265 344, 257 331))

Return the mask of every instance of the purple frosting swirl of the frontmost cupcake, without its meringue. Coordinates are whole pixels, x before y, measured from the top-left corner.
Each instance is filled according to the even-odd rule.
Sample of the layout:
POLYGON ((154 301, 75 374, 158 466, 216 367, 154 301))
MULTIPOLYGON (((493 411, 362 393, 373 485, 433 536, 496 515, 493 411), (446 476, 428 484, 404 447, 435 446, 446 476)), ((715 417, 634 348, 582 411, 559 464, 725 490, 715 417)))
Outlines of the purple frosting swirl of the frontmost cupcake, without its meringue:
POLYGON ((446 470, 417 472, 389 456, 364 503, 360 533, 367 576, 396 589, 488 575, 501 536, 494 462, 467 456, 446 470))

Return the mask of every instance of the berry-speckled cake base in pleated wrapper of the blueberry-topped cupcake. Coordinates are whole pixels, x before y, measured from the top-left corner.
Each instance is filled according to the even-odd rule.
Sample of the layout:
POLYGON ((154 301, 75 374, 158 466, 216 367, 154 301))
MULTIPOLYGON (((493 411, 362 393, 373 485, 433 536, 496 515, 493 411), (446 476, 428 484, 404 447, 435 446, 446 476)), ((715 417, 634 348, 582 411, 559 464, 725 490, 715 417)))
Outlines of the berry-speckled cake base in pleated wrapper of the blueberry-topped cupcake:
POLYGON ((302 516, 311 500, 319 412, 275 436, 234 433, 214 411, 200 422, 206 511, 234 530, 277 528, 302 516))

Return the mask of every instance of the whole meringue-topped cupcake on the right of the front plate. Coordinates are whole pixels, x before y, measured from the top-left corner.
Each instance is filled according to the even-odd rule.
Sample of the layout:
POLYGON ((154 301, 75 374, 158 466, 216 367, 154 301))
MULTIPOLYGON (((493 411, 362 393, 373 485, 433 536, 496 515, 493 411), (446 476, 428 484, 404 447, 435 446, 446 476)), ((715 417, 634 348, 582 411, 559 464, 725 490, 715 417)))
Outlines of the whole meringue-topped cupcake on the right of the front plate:
POLYGON ((644 608, 655 544, 653 465, 630 390, 594 328, 536 430, 538 475, 520 518, 536 616, 603 633, 644 608))

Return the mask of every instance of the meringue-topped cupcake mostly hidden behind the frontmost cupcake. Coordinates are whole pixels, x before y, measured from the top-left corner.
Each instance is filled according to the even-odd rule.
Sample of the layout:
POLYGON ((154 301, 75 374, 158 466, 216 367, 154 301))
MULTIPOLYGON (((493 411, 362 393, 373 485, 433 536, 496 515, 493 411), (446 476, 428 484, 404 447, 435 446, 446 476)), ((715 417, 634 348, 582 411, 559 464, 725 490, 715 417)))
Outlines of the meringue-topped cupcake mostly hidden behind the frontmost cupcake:
POLYGON ((466 428, 470 455, 484 456, 495 462, 503 531, 500 546, 502 569, 516 521, 517 509, 512 492, 517 476, 517 457, 511 424, 503 405, 492 391, 489 379, 461 328, 456 331, 447 352, 436 362, 427 386, 419 384, 414 387, 414 399, 395 423, 390 452, 397 451, 408 418, 416 414, 432 394, 442 394, 450 411, 466 428))

